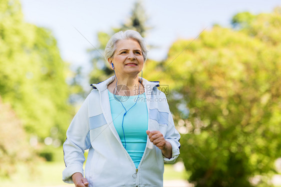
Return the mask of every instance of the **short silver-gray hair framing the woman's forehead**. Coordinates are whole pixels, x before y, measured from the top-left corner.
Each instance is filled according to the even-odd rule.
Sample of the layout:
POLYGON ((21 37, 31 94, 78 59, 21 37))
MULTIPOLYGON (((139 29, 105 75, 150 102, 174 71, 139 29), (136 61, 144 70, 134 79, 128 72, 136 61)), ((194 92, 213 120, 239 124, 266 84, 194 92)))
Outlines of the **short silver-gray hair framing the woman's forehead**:
POLYGON ((146 48, 146 43, 143 37, 141 37, 140 33, 138 33, 135 30, 126 30, 126 31, 119 31, 116 32, 112 37, 108 40, 106 47, 104 49, 104 57, 105 60, 107 61, 108 58, 112 57, 114 55, 114 52, 116 50, 116 43, 117 41, 121 39, 133 39, 138 42, 141 48, 142 56, 143 56, 143 61, 146 60, 147 56, 147 48, 146 48))

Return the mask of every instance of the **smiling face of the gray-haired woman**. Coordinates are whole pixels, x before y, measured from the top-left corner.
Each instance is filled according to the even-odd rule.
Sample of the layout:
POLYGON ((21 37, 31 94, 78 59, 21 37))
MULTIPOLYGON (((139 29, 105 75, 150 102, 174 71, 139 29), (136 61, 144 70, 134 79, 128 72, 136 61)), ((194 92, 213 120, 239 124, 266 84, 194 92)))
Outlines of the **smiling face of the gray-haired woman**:
POLYGON ((110 66, 113 63, 116 74, 138 74, 143 67, 141 47, 136 40, 122 39, 117 41, 116 50, 112 58, 108 59, 110 66))

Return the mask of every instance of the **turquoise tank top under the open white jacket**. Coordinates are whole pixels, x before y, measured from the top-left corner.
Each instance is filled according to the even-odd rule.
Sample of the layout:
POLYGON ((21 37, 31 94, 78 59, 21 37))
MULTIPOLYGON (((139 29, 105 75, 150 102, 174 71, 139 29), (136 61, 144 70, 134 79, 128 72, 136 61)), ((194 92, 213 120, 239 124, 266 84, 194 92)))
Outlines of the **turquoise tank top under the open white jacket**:
POLYGON ((143 155, 147 139, 146 130, 148 127, 148 113, 145 101, 145 93, 139 94, 138 99, 138 95, 116 95, 116 97, 122 101, 122 104, 127 110, 123 120, 123 129, 122 118, 125 113, 125 109, 123 108, 122 104, 114 97, 114 94, 112 94, 109 90, 108 95, 113 124, 123 146, 137 168, 143 155), (138 100, 136 104, 129 109, 136 100, 138 100))

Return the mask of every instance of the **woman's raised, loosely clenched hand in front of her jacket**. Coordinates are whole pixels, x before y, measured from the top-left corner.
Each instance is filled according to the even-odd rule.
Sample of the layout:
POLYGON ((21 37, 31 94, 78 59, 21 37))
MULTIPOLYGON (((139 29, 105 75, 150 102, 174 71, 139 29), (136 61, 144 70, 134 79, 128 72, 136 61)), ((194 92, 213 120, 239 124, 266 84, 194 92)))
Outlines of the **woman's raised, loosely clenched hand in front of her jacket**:
POLYGON ((171 144, 165 140, 163 134, 158 130, 146 130, 146 134, 150 141, 156 145, 159 149, 162 150, 162 154, 167 157, 171 158, 171 144))

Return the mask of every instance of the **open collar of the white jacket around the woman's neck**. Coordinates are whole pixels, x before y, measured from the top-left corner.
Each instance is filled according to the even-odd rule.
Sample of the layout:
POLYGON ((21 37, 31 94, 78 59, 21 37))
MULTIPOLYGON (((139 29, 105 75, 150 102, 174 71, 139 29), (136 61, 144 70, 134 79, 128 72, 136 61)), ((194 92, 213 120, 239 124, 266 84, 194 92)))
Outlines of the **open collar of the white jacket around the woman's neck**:
MULTIPOLYGON (((107 85, 111 82, 113 82, 113 80, 115 79, 115 76, 111 76, 109 78, 107 78, 106 80, 96 83, 96 84, 90 84, 93 89, 98 89, 99 92, 104 91, 105 89, 107 89, 107 85)), ((138 77, 138 81, 141 80, 141 77, 138 77)), ((159 86, 159 81, 148 81, 145 78, 142 77, 141 80, 142 85, 144 86, 145 91, 150 94, 150 92, 152 92, 153 89, 155 89, 155 87, 159 86)))

